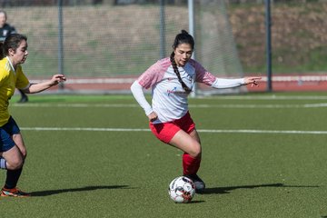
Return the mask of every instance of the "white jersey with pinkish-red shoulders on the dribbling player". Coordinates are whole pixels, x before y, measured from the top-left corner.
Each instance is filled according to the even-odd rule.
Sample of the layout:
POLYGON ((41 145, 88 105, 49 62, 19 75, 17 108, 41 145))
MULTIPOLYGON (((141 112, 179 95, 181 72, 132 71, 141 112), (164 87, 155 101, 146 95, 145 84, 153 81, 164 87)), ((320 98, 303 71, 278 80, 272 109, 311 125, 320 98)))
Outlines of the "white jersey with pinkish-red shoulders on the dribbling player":
MULTIPOLYGON (((212 86, 213 88, 232 88, 244 84, 243 79, 218 79, 206 71, 201 64, 190 59, 178 71, 181 78, 190 89, 195 82, 212 86)), ((171 122, 180 119, 188 111, 188 94, 183 90, 169 57, 159 60, 149 67, 131 87, 137 102, 144 108, 145 114, 155 112, 158 119, 154 124, 171 122), (143 88, 152 87, 152 106, 145 100, 143 88)))

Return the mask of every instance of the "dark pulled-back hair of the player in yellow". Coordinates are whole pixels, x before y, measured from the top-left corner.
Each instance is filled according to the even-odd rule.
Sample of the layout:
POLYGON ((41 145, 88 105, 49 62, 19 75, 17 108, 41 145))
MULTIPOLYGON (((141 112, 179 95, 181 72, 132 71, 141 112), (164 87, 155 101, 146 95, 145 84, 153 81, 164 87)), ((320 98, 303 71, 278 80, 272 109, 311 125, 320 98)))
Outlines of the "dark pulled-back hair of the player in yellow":
POLYGON ((8 35, 5 38, 5 41, 0 43, 0 58, 3 59, 6 55, 8 55, 9 49, 13 49, 15 51, 23 40, 27 41, 27 37, 25 35, 8 35))

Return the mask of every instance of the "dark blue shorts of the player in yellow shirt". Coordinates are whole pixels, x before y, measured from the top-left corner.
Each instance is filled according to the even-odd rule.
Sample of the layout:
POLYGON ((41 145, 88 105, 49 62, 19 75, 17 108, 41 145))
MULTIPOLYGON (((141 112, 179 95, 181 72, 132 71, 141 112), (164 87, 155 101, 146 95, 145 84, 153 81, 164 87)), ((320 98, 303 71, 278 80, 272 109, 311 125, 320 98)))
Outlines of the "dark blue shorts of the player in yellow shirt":
POLYGON ((20 130, 13 117, 10 116, 8 122, 0 127, 0 153, 9 151, 15 146, 12 138, 13 134, 19 134, 20 130))

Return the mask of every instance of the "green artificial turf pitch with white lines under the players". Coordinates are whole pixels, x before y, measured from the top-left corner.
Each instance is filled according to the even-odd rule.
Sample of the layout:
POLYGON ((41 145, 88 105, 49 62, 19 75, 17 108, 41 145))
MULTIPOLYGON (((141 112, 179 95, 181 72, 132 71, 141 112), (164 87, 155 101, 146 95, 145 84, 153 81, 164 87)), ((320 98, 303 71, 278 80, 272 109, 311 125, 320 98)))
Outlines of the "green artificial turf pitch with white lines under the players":
POLYGON ((28 151, 18 186, 33 197, 0 198, 2 218, 327 217, 325 93, 191 98, 207 189, 185 204, 167 193, 182 152, 154 138, 131 95, 16 100, 28 151))

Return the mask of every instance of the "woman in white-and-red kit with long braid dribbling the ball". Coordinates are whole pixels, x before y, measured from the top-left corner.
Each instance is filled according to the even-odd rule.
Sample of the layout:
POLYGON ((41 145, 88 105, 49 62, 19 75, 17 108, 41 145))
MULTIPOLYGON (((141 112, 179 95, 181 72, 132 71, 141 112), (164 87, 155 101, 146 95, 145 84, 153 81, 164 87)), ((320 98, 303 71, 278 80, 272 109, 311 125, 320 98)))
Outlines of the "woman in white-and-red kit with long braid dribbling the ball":
POLYGON ((149 118, 153 134, 165 144, 181 149, 183 175, 193 180, 197 192, 205 188, 197 175, 201 163, 201 142, 189 114, 187 97, 195 82, 213 88, 232 88, 245 84, 258 85, 260 77, 221 79, 207 72, 201 64, 191 59, 193 36, 186 31, 176 35, 173 53, 148 68, 132 84, 131 91, 149 118), (152 87, 152 106, 144 97, 144 88, 152 87))

